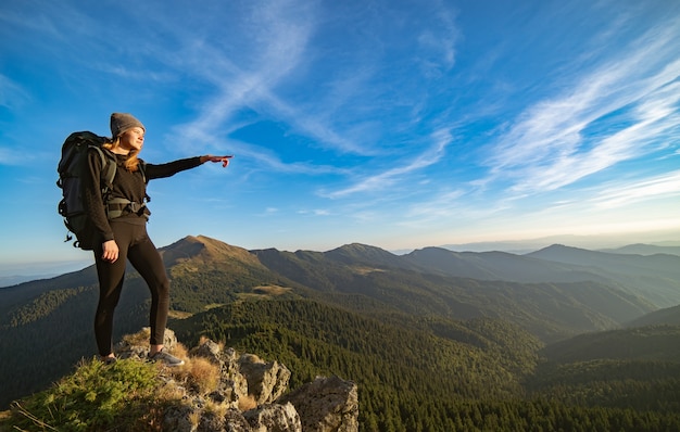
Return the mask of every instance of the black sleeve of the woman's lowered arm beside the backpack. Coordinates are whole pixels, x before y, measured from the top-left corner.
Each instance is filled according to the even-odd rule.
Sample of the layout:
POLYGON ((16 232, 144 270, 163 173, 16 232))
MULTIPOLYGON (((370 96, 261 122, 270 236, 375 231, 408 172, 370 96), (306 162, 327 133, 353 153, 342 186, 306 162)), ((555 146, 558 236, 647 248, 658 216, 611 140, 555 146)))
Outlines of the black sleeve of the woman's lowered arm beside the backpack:
POLYGON ((109 225, 101 195, 101 157, 96 150, 88 150, 87 162, 87 169, 83 173, 83 200, 86 212, 103 243, 113 240, 113 230, 109 225))

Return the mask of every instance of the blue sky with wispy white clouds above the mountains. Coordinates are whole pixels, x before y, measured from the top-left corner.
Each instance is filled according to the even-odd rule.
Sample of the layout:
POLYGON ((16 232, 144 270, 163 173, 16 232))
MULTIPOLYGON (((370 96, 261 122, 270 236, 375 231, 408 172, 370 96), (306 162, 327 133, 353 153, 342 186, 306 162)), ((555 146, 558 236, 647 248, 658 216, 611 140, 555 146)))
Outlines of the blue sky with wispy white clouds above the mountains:
POLYGON ((56 163, 111 112, 158 246, 680 240, 680 2, 4 1, 0 270, 63 243, 56 163))

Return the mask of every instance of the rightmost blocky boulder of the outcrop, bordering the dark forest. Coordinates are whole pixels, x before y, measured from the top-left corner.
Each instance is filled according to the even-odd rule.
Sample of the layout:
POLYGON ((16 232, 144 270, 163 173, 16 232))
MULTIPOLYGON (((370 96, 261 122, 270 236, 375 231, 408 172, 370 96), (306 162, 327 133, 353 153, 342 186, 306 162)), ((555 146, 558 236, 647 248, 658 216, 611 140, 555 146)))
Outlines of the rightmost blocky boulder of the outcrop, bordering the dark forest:
POLYGON ((352 381, 317 377, 278 402, 295 406, 305 432, 358 431, 358 392, 352 381))

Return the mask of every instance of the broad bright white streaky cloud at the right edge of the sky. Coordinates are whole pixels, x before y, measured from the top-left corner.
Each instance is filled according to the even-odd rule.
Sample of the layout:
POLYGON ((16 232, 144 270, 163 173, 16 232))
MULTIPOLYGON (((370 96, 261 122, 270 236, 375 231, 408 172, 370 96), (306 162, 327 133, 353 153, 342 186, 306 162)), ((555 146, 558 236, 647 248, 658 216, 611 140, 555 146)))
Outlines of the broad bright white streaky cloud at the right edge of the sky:
POLYGON ((668 50, 677 36, 675 28, 655 29, 582 76, 568 94, 527 109, 492 149, 491 179, 512 179, 515 193, 544 192, 650 151, 647 137, 677 124, 678 92, 669 89, 677 87, 680 61, 668 50), (585 138, 590 125, 625 109, 631 113, 626 126, 585 138))

